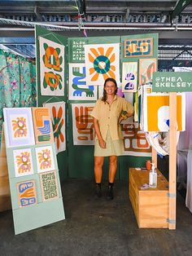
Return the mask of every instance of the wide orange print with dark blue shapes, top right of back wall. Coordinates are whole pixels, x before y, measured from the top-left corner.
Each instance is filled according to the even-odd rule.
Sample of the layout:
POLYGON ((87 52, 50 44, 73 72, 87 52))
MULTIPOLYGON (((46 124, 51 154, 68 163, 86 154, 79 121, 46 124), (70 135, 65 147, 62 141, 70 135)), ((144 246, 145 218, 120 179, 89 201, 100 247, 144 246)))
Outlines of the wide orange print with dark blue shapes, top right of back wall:
POLYGON ((124 40, 124 57, 149 57, 153 55, 153 38, 124 40))

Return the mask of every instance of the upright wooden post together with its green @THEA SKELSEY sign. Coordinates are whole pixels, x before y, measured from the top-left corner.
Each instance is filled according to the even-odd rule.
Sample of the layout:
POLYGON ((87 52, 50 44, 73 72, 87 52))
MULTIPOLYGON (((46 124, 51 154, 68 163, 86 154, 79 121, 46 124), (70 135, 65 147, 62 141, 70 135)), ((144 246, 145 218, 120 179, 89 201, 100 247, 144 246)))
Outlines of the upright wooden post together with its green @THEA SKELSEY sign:
MULTIPOLYGON (((172 230, 176 229, 177 208, 177 92, 192 91, 191 81, 191 72, 153 73, 152 91, 169 92, 169 207, 167 221, 168 228, 172 230), (161 84, 164 86, 160 86, 161 84)), ((152 154, 152 157, 155 156, 152 154)))

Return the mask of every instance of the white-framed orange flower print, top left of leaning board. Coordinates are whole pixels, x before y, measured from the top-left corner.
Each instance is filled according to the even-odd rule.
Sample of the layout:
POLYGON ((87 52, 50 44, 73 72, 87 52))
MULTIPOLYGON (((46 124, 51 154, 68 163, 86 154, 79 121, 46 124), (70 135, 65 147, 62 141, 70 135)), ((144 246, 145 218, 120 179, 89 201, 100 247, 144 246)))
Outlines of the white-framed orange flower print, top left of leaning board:
POLYGON ((7 147, 35 144, 31 108, 3 108, 7 147))

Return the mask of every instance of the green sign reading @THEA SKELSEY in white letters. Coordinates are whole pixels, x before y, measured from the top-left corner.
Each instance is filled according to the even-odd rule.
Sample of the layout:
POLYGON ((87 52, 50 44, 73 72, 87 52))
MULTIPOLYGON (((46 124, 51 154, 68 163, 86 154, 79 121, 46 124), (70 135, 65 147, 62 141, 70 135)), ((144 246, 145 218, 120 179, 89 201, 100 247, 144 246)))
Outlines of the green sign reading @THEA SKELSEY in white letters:
POLYGON ((192 91, 192 72, 155 72, 152 91, 192 91))

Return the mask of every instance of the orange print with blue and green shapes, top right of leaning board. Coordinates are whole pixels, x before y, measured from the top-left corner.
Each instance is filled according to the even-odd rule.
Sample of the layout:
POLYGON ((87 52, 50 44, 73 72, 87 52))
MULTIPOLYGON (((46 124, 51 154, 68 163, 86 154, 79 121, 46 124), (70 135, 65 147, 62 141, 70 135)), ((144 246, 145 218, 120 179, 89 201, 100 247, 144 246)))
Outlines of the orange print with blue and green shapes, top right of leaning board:
POLYGON ((53 129, 49 108, 32 108, 36 143, 53 143, 53 129))

